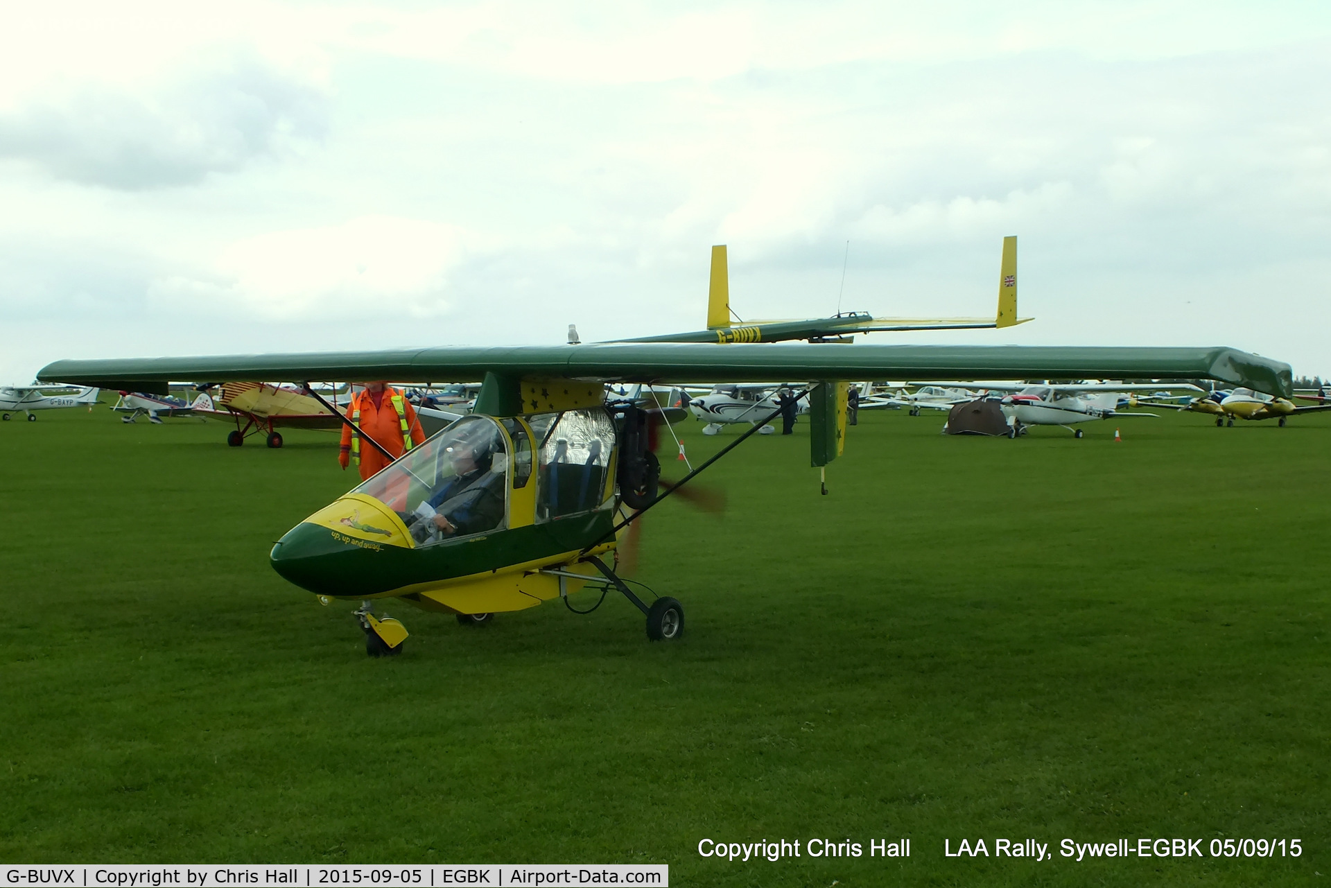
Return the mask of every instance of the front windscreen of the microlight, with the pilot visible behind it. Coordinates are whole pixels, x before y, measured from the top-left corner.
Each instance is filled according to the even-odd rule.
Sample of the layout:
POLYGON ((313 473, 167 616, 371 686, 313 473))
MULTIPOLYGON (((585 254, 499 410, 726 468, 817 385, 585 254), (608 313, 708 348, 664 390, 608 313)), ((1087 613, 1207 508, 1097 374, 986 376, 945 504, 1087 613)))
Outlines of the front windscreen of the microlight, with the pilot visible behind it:
MULTIPOLYGON (((527 471, 531 471, 527 451, 527 471)), ((508 449, 488 417, 463 417, 355 489, 398 513, 417 545, 504 526, 508 449)))

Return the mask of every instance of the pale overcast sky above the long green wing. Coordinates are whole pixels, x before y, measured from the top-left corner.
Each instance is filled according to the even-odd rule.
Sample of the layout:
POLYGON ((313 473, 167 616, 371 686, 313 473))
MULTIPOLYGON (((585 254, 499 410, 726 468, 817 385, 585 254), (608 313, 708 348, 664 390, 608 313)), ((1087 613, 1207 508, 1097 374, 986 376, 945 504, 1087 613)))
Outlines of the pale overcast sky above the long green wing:
POLYGON ((11 4, 0 382, 699 329, 712 244, 745 318, 992 314, 1005 234, 1036 321, 869 341, 1327 375, 1328 85, 1324 0, 11 4))

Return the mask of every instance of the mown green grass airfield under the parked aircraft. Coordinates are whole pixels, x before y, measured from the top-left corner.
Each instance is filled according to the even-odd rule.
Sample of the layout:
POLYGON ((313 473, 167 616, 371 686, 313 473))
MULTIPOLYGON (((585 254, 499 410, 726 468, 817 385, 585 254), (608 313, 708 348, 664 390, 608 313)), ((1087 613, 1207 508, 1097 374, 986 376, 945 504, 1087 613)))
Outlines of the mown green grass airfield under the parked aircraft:
MULTIPOLYGON (((353 606, 268 566, 351 486, 333 435, 228 449, 224 426, 104 407, 4 423, 0 859, 1331 880, 1331 422, 1167 415, 1114 443, 1105 425, 1006 441, 861 417, 828 497, 804 434, 755 438, 704 475, 724 515, 647 518, 636 576, 683 602, 680 642, 648 643, 620 598, 483 630, 389 607, 413 632, 389 660, 365 656, 353 606), (1057 855, 1157 836, 1304 852, 1057 855), (909 859, 868 856, 900 837, 909 859), (944 856, 980 837, 1055 856, 944 856), (717 861, 701 839, 865 856, 717 861)), ((732 435, 684 439, 696 459, 732 435)))

